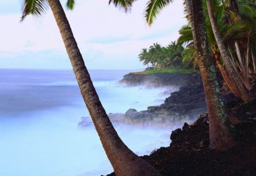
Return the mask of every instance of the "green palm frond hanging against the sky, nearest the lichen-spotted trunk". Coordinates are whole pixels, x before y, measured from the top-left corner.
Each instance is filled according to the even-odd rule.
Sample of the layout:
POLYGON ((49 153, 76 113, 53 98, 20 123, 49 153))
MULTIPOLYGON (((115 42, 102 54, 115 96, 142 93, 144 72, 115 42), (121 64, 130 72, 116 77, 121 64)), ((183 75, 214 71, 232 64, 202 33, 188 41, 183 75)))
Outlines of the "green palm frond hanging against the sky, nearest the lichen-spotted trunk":
POLYGON ((147 24, 151 25, 156 15, 171 2, 172 0, 149 0, 144 12, 147 24))

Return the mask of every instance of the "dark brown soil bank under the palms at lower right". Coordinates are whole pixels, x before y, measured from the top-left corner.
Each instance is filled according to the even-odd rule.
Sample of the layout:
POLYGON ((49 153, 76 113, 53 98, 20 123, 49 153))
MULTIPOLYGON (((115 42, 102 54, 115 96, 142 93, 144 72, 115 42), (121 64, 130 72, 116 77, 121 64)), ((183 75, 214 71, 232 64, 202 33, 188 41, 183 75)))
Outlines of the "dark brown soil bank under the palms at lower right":
POLYGON ((142 158, 163 175, 256 175, 256 101, 233 102, 227 109, 233 120, 238 120, 235 147, 225 152, 209 149, 204 115, 192 125, 185 123, 182 130, 173 131, 170 147, 142 158))

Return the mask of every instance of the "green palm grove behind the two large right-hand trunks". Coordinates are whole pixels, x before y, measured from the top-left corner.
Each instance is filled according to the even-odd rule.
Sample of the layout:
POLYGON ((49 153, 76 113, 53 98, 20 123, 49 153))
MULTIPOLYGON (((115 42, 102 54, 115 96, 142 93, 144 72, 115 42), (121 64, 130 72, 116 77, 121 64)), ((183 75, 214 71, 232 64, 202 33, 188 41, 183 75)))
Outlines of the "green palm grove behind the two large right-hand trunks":
MULTIPOLYGON (((255 1, 243 0, 237 1, 237 3, 234 1, 212 1, 213 14, 225 48, 230 55, 231 68, 236 72, 241 72, 243 81, 248 83, 249 77, 256 74, 255 9, 255 1)), ((206 1, 203 1, 203 10, 212 59, 217 70, 226 78, 226 63, 221 57, 221 51, 214 37, 206 1)), ((199 69, 188 15, 186 18, 188 24, 180 28, 180 36, 177 41, 171 41, 167 46, 156 42, 149 48, 143 48, 138 55, 139 61, 143 62, 148 69, 154 70, 164 68, 199 69)))

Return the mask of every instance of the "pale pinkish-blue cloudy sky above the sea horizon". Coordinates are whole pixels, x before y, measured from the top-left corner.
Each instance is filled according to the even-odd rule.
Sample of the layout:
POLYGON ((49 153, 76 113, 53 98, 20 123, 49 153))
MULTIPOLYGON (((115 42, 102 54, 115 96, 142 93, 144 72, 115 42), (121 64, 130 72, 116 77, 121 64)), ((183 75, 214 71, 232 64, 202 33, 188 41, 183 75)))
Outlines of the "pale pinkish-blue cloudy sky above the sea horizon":
MULTIPOLYGON (((20 21, 22 0, 1 0, 0 68, 71 69, 52 12, 20 21)), ((108 0, 76 0, 67 10, 73 34, 88 69, 140 69, 138 54, 154 42, 168 45, 186 24, 183 1, 174 1, 148 27, 146 2, 134 3, 131 13, 108 5, 108 0)))

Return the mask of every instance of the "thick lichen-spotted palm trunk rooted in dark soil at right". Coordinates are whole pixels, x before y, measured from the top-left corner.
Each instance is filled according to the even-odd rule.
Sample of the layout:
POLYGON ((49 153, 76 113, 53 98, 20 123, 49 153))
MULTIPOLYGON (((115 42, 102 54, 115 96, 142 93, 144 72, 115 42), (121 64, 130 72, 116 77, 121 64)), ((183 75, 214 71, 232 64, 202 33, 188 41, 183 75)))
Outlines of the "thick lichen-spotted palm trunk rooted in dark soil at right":
POLYGON ((185 0, 185 5, 189 14, 189 23, 193 32, 194 45, 204 84, 205 100, 207 101, 210 121, 210 148, 223 151, 235 144, 232 134, 234 128, 225 112, 218 88, 215 68, 207 41, 202 1, 185 0))

